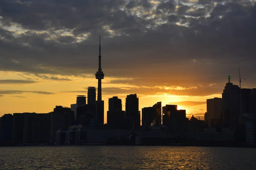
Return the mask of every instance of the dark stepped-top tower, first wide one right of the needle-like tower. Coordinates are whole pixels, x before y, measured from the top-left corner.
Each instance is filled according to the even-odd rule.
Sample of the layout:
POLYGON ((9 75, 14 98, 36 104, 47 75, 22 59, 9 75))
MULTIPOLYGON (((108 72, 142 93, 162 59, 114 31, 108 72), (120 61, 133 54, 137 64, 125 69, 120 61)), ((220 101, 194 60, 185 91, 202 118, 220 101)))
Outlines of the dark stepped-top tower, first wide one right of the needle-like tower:
POLYGON ((122 111, 122 100, 117 96, 108 99, 107 122, 112 129, 125 128, 125 111, 122 111))

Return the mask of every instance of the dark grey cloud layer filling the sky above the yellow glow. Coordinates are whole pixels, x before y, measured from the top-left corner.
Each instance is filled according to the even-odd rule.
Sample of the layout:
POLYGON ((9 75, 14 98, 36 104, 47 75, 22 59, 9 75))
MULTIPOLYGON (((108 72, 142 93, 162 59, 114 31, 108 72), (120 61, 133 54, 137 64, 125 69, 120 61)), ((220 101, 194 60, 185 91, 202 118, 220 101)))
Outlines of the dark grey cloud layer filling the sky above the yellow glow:
POLYGON ((108 77, 134 77, 137 82, 127 82, 134 85, 200 86, 224 84, 241 67, 256 85, 255 20, 249 0, 169 0, 156 9, 147 0, 2 0, 0 70, 94 74, 101 34, 108 77), (13 31, 15 24, 20 31, 13 31))

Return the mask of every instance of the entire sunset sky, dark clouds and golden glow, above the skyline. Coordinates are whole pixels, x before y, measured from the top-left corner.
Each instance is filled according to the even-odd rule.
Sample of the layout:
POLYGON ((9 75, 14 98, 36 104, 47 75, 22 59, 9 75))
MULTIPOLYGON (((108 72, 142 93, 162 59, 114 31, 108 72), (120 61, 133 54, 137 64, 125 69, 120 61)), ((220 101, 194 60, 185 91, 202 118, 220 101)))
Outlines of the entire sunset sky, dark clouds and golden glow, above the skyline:
POLYGON ((255 88, 256 0, 1 0, 0 116, 137 94, 139 108, 178 105, 204 119, 227 76, 255 88))

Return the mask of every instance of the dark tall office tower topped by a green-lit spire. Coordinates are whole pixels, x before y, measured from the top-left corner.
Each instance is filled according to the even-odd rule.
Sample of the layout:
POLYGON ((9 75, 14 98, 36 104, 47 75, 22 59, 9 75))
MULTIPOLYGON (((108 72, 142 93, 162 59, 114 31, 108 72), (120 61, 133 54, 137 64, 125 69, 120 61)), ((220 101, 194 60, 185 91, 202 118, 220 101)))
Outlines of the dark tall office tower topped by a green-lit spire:
POLYGON ((239 125, 240 88, 238 85, 233 85, 233 83, 230 82, 230 76, 227 78, 228 82, 222 93, 222 118, 224 125, 234 128, 239 125))

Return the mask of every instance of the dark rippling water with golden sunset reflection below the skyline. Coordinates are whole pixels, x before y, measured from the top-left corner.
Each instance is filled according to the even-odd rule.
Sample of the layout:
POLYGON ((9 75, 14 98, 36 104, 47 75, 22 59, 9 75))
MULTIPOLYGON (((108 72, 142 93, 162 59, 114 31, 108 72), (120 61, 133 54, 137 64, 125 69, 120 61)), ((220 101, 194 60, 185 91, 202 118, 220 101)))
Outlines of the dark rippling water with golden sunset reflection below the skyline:
POLYGON ((0 170, 255 170, 255 148, 0 147, 0 170))

